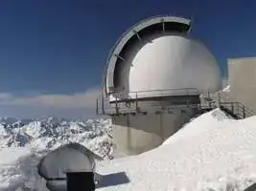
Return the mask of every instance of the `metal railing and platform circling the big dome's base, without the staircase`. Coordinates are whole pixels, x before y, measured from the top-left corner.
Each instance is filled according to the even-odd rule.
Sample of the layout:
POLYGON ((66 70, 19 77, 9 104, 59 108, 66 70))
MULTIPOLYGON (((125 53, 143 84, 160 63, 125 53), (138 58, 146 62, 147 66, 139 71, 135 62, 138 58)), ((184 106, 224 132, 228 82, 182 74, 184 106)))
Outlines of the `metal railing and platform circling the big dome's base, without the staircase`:
MULTIPOLYGON (((152 102, 147 104, 144 102, 143 106, 139 105, 139 102, 143 99, 149 101, 162 99, 163 97, 172 96, 199 96, 198 90, 193 88, 184 89, 166 89, 166 90, 150 90, 150 91, 137 91, 137 92, 123 92, 113 95, 112 99, 105 100, 102 98, 100 101, 97 99, 96 102, 96 113, 111 115, 111 114, 122 114, 122 113, 145 113, 149 110, 163 110, 170 106, 159 106, 159 103, 153 104, 152 102), (110 103, 109 103, 110 102, 110 103)), ((186 107, 198 107, 198 104, 192 104, 191 99, 184 98, 182 100, 183 105, 186 107)), ((174 107, 174 106, 172 106, 174 107)))

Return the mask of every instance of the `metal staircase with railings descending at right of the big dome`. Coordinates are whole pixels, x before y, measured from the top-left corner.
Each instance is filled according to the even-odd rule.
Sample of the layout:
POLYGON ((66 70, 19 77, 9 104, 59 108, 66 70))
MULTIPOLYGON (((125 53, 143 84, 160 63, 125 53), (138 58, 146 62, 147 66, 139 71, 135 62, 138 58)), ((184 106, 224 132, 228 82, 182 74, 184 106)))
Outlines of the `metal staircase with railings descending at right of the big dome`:
POLYGON ((252 117, 253 111, 236 101, 225 92, 211 93, 201 96, 201 103, 208 105, 209 108, 219 107, 223 112, 236 119, 252 117))

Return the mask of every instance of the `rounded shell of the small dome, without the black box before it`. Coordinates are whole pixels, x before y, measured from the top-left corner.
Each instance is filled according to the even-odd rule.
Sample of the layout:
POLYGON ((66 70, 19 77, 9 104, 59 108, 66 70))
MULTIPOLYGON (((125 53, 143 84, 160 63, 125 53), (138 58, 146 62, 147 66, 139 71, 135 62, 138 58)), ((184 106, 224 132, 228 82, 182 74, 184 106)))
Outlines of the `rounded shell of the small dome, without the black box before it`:
POLYGON ((47 154, 38 163, 38 174, 45 180, 65 179, 66 172, 92 172, 98 155, 79 143, 71 142, 47 154))

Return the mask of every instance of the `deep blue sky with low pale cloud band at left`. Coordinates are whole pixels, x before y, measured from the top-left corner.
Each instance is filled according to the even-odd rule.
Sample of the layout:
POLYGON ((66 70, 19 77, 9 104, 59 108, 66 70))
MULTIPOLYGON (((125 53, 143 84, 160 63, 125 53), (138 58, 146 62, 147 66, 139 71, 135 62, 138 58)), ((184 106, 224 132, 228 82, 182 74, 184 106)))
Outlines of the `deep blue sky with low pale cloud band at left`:
POLYGON ((109 49, 156 14, 192 17, 223 75, 256 55, 255 0, 1 0, 0 116, 88 117, 109 49))

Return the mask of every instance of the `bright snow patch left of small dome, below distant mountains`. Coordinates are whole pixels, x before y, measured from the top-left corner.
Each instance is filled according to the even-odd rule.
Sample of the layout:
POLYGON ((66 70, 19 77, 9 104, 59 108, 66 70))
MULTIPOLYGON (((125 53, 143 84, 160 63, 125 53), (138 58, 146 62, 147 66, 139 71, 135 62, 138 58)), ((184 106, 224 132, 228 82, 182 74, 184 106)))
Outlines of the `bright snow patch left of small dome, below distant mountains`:
POLYGON ((26 147, 0 149, 0 190, 47 190, 36 165, 41 155, 26 147), (38 189, 40 188, 40 189, 38 189))

